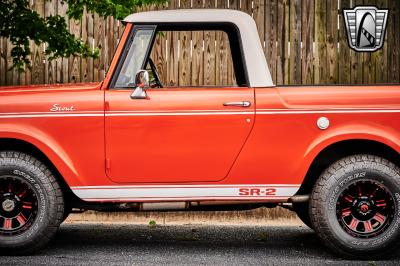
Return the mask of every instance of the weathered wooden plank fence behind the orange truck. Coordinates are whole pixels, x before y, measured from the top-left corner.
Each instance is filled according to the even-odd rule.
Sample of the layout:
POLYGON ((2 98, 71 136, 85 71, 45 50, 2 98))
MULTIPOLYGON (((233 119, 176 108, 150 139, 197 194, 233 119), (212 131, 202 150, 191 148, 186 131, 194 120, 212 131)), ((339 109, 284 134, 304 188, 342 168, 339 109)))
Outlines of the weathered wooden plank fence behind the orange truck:
MULTIPOLYGON (((65 16, 61 1, 31 0, 43 16, 65 16)), ((276 84, 358 84, 400 82, 399 0, 171 0, 168 5, 148 9, 229 8, 244 11, 256 21, 270 70, 276 84), (389 8, 384 48, 374 53, 357 53, 347 44, 342 8, 376 5, 389 8)), ((100 81, 112 59, 123 25, 85 13, 81 21, 69 21, 70 31, 90 46, 101 49, 100 58, 71 57, 48 61, 44 45, 32 45, 32 69, 8 71, 11 45, 0 40, 0 85, 100 81)), ((189 36, 167 35, 157 41, 155 63, 162 79, 170 84, 231 83, 229 64, 210 58, 221 57, 218 36, 203 32, 189 36), (206 44, 199 45, 199 42, 206 44), (180 53, 175 53, 177 42, 180 53), (163 47, 169 43, 168 47, 163 47), (214 45, 213 45, 214 43, 214 45), (175 44, 175 45, 174 45, 175 44), (175 50, 174 50, 175 49, 175 50), (176 54, 181 54, 180 58, 176 54), (189 65, 182 63, 188 57, 189 65), (167 66, 167 65, 171 65, 167 66), (165 69, 163 69, 165 68, 165 69), (187 80, 185 80, 187 79, 187 80)), ((221 48, 222 47, 222 48, 221 48)))

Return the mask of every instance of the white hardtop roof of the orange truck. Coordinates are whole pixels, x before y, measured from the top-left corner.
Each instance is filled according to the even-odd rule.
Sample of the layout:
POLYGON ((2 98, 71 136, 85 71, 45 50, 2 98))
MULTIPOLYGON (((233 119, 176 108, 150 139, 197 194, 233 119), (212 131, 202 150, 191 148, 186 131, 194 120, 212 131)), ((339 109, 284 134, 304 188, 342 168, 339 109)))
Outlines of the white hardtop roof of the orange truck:
POLYGON ((240 32, 242 49, 247 67, 250 87, 273 86, 256 24, 248 14, 229 9, 178 9, 149 11, 129 15, 127 23, 212 23, 235 24, 240 32))

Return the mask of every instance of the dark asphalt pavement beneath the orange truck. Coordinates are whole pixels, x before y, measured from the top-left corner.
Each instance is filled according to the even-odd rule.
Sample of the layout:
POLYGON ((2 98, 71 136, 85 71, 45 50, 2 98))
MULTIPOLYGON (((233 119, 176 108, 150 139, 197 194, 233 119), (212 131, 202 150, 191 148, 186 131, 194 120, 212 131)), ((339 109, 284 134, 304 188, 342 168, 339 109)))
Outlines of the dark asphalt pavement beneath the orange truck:
POLYGON ((64 224, 34 256, 1 265, 400 265, 331 255, 305 226, 64 224))

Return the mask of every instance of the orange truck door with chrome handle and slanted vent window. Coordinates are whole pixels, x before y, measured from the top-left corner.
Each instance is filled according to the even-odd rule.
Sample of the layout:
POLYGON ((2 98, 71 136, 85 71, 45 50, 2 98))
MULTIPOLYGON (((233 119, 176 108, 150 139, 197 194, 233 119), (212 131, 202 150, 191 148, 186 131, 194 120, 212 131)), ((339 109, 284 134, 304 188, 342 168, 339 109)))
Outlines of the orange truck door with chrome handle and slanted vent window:
POLYGON ((135 27, 105 91, 107 175, 118 183, 222 180, 252 129, 254 90, 148 88, 146 99, 131 99, 126 87, 146 65, 153 37, 151 27, 135 27))

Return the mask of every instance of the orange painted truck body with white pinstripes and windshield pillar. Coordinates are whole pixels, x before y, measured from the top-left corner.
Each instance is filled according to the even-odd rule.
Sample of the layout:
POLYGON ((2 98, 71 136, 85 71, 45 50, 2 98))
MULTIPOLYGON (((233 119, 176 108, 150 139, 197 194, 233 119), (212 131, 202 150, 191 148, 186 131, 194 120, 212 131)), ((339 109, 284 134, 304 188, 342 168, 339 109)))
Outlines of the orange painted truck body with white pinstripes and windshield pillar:
POLYGON ((300 185, 339 141, 400 152, 399 85, 108 90, 130 28, 101 84, 2 88, 0 139, 36 146, 71 187, 300 185), (235 101, 251 106, 223 106, 235 101))

